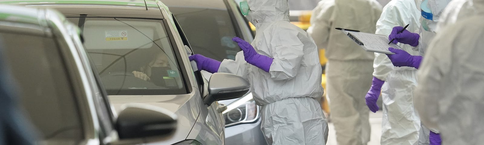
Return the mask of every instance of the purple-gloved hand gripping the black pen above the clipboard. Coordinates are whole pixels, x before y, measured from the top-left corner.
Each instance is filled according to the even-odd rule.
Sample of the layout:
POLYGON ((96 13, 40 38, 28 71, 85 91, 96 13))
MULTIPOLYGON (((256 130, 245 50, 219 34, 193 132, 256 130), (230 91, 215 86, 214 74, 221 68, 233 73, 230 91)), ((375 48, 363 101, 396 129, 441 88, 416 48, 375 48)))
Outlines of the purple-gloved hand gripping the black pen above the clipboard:
POLYGON ((412 33, 408 31, 407 29, 403 30, 402 33, 398 33, 403 29, 403 27, 397 26, 393 27, 392 33, 388 36, 388 40, 392 41, 392 39, 395 39, 392 41, 392 43, 404 43, 404 44, 409 44, 410 46, 417 46, 419 45, 419 38, 420 35, 417 33, 412 33))

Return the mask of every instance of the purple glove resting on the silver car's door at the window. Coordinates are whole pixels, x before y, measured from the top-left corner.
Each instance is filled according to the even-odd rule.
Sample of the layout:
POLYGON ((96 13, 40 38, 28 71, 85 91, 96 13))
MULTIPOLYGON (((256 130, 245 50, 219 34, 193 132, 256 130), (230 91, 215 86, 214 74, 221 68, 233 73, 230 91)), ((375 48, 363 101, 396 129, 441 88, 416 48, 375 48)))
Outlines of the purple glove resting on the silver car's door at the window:
POLYGON ((190 58, 190 61, 195 60, 197 62, 197 68, 198 70, 205 70, 209 73, 217 73, 218 68, 220 67, 220 64, 222 62, 217 61, 212 58, 207 58, 202 55, 196 54, 193 56, 188 57, 190 58))

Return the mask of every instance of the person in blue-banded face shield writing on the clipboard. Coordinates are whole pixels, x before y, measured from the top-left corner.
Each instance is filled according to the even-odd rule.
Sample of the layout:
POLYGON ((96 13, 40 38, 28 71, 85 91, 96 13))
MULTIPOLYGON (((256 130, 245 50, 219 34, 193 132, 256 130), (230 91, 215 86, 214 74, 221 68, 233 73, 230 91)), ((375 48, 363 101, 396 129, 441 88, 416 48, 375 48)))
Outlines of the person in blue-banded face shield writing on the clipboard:
MULTIPOLYGON (((450 0, 416 0, 417 8, 421 10, 419 34, 412 33, 408 30, 403 30, 402 33, 398 33, 403 27, 394 27, 388 39, 394 39, 392 43, 404 43, 416 46, 414 47, 414 50, 418 50, 420 56, 413 56, 404 50, 390 47, 389 50, 395 54, 387 56, 390 58, 394 66, 407 66, 419 69, 425 50, 437 34, 437 23, 439 22, 440 15, 449 2, 450 0)), ((425 115, 420 116, 425 117, 425 115)), ((429 128, 429 130, 430 145, 440 145, 441 139, 439 130, 435 127, 429 128)))

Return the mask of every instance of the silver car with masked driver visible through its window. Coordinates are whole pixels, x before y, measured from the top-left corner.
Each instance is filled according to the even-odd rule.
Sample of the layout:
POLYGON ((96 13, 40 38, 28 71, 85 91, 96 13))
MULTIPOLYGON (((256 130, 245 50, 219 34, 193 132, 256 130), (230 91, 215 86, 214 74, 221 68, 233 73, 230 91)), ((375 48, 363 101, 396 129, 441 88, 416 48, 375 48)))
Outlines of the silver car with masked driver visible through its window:
MULTIPOLYGON (((54 8, 81 29, 84 46, 115 111, 126 104, 163 107, 178 116, 169 138, 156 145, 224 145, 227 109, 219 100, 249 90, 241 77, 194 72, 190 44, 161 1, 26 0, 12 4, 54 8), (230 82, 230 83, 227 83, 230 82)), ((195 64, 196 65, 196 64, 195 64)))

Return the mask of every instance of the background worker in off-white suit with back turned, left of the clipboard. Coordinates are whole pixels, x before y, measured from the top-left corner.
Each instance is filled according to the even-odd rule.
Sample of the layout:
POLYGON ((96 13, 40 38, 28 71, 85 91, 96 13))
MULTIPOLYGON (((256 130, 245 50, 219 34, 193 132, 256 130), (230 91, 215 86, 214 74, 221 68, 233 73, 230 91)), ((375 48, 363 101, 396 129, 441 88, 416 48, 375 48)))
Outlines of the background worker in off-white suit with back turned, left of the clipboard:
POLYGON ((321 0, 307 32, 326 50, 326 95, 339 145, 366 145, 370 140, 368 107, 363 96, 371 85, 374 55, 334 28, 375 32, 381 14, 376 0, 321 0))

